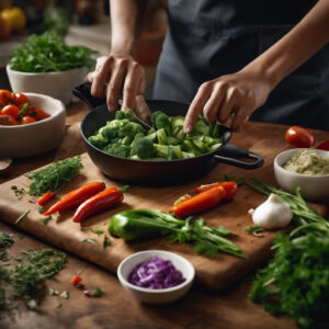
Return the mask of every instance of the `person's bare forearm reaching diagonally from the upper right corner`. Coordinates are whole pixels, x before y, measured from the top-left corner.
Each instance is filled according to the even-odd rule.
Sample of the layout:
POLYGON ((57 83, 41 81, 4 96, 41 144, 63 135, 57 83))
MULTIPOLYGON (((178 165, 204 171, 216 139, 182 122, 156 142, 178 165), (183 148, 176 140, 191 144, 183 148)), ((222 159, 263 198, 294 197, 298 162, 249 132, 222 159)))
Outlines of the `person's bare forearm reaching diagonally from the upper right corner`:
POLYGON ((329 0, 319 0, 282 39, 245 69, 265 73, 274 88, 329 41, 329 0))

